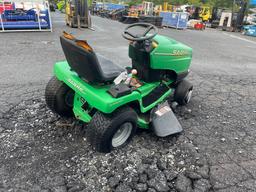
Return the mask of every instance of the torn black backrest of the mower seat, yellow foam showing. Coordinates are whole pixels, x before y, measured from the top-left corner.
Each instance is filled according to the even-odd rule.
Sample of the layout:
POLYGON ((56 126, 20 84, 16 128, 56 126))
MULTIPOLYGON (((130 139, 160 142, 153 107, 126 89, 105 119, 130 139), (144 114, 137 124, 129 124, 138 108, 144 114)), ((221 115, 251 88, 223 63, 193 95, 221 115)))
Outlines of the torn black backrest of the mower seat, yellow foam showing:
POLYGON ((85 49, 79 46, 78 42, 81 41, 68 39, 64 36, 60 37, 60 42, 67 62, 73 71, 88 82, 104 82, 102 69, 92 49, 85 49))

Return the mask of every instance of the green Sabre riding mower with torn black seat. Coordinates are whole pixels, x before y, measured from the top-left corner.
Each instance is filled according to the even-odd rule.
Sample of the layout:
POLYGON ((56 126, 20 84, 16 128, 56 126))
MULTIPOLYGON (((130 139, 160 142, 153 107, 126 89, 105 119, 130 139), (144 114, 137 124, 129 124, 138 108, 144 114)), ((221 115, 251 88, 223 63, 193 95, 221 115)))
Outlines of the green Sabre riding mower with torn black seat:
POLYGON ((132 61, 125 69, 64 32, 60 41, 66 61, 55 64, 45 91, 53 112, 87 124, 88 140, 99 152, 123 147, 137 127, 152 129, 159 137, 180 133, 170 103, 189 103, 193 91, 184 80, 190 47, 158 35, 148 23, 129 25, 122 36, 129 40, 132 61))

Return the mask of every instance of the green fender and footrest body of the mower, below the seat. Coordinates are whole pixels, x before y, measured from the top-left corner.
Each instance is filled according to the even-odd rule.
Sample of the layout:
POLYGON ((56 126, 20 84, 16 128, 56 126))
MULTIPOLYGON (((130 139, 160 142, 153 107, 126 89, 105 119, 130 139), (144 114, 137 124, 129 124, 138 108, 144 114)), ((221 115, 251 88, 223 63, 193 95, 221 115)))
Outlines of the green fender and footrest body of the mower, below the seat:
MULTIPOLYGON (((56 63, 54 66, 54 75, 58 80, 68 85, 74 92, 74 106, 73 112, 75 117, 86 123, 89 123, 92 119, 91 111, 93 109, 99 110, 106 114, 111 114, 113 111, 124 105, 131 105, 136 103, 139 107, 139 113, 146 113, 154 108, 157 104, 163 102, 168 98, 174 89, 169 89, 156 101, 148 106, 143 106, 142 99, 146 95, 152 92, 160 85, 160 82, 147 83, 131 94, 113 98, 107 91, 110 85, 90 85, 85 83, 77 73, 70 70, 70 67, 66 61, 56 63)), ((174 81, 164 82, 166 86, 171 86, 174 81)), ((139 114, 138 114, 139 117, 139 114)), ((138 118, 138 126, 140 128, 148 128, 149 122, 146 122, 143 118, 138 118)))

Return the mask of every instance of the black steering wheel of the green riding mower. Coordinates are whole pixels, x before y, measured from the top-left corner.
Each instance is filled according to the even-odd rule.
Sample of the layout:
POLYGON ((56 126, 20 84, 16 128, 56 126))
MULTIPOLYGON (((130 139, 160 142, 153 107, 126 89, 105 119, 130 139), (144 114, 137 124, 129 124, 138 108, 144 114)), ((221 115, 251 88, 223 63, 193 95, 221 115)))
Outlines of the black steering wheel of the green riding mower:
POLYGON ((150 23, 135 23, 131 24, 128 27, 125 28, 122 36, 130 41, 145 41, 148 39, 152 39, 155 37, 158 33, 158 29, 156 26, 150 24, 150 23), (143 34, 133 34, 129 31, 129 29, 134 27, 142 27, 145 28, 145 31, 143 34), (150 31, 153 31, 153 34, 147 35, 150 31))

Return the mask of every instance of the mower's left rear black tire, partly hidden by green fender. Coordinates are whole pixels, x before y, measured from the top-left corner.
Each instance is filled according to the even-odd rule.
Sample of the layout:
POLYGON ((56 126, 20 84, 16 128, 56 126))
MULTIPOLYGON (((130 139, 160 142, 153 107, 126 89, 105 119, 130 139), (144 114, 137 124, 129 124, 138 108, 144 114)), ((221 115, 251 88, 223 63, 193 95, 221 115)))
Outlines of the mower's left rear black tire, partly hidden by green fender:
POLYGON ((74 91, 56 77, 52 77, 45 89, 47 106, 62 117, 72 117, 73 100, 74 91))

